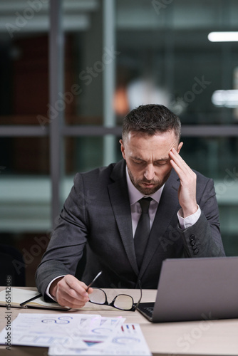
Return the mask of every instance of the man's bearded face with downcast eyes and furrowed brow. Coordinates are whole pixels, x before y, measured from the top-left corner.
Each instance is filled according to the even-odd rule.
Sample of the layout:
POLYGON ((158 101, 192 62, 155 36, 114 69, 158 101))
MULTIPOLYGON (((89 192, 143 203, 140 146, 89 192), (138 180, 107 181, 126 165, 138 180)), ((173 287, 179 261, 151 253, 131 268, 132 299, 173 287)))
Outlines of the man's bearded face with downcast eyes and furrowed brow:
POLYGON ((120 140, 130 180, 142 194, 155 193, 170 177, 172 166, 169 153, 172 147, 178 153, 182 147, 174 131, 158 132, 152 136, 130 132, 124 140, 120 140))

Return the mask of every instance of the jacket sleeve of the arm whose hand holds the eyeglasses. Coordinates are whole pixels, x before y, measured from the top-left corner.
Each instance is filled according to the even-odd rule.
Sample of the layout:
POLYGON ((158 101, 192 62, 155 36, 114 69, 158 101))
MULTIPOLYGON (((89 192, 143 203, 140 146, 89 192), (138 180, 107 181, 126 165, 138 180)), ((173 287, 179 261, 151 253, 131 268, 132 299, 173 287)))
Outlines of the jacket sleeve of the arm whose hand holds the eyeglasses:
POLYGON ((58 276, 74 275, 78 261, 83 256, 88 236, 85 207, 90 199, 83 192, 83 179, 80 174, 76 174, 73 188, 63 205, 56 229, 36 271, 36 286, 46 299, 48 283, 58 276))

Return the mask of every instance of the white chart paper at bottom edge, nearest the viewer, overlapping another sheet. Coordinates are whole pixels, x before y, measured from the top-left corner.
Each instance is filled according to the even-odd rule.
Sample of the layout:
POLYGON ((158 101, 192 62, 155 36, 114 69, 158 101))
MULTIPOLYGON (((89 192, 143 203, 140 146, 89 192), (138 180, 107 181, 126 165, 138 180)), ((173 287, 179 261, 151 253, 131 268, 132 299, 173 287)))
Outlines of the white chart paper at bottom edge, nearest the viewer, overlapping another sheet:
POLYGON ((85 347, 57 347, 54 345, 49 348, 49 356, 76 356, 76 355, 134 355, 151 356, 145 337, 139 324, 118 325, 117 330, 103 344, 103 348, 95 348, 95 345, 88 344, 85 347))

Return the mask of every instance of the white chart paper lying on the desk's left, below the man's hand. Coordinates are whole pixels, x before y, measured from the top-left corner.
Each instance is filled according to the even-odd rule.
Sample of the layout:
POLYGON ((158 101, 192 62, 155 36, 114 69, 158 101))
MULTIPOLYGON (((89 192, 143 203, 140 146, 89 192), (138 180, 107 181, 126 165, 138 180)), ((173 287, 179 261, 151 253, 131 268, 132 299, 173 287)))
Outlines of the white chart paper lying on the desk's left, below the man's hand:
MULTIPOLYGON (((41 346, 67 345, 77 342, 78 347, 94 343, 102 348, 110 333, 121 325, 125 318, 103 318, 92 314, 33 314, 20 313, 12 322, 11 345, 41 346), (109 328, 110 327, 110 328, 109 328), (110 333, 105 333, 105 328, 110 333)), ((4 344, 6 330, 0 333, 0 343, 4 344)))

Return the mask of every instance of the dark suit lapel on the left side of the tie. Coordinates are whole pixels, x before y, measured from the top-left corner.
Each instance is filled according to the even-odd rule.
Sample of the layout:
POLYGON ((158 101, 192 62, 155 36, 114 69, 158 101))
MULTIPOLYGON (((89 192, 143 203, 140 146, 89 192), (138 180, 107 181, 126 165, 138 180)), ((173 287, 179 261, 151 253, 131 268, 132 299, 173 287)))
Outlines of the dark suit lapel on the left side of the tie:
POLYGON ((124 160, 115 164, 110 178, 113 182, 108 184, 108 194, 112 204, 115 220, 118 224, 118 230, 120 232, 130 264, 135 273, 138 274, 124 160))

